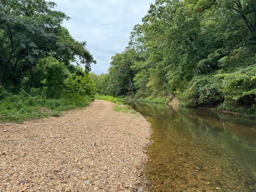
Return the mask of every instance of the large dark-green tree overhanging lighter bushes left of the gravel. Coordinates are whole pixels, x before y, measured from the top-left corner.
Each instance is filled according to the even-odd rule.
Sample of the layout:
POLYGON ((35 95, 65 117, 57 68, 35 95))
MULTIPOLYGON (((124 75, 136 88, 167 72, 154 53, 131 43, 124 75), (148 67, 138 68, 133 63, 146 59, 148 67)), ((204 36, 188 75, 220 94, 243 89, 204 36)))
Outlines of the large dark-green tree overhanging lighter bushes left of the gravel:
POLYGON ((0 0, 0 82, 19 84, 47 56, 66 65, 78 56, 88 71, 96 63, 86 43, 74 40, 61 26, 69 17, 54 6, 45 0, 0 0))

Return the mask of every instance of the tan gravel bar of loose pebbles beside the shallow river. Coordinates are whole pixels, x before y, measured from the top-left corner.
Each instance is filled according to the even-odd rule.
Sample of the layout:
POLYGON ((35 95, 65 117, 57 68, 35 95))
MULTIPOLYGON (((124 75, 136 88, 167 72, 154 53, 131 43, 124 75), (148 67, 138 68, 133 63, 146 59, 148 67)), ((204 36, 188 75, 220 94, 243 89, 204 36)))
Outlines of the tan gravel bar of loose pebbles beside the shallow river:
POLYGON ((0 192, 136 191, 150 123, 113 106, 96 100, 61 117, 0 124, 0 192))

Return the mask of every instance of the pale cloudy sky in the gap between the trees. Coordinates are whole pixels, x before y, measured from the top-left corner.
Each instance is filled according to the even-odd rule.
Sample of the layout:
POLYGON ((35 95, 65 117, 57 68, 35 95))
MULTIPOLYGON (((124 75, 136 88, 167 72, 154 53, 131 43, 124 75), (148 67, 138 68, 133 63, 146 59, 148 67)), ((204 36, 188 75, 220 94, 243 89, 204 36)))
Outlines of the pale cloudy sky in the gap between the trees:
POLYGON ((50 0, 71 19, 63 22, 71 36, 86 41, 97 64, 92 72, 107 73, 111 57, 128 46, 134 25, 141 24, 154 0, 50 0))

